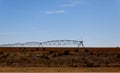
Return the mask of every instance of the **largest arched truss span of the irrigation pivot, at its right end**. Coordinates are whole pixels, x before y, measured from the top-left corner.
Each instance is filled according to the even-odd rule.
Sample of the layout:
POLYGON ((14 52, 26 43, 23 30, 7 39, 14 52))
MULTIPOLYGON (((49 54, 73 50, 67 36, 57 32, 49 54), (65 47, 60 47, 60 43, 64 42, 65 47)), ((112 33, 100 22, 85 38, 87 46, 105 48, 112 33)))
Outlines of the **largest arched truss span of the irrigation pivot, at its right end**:
POLYGON ((77 40, 52 40, 39 44, 39 47, 84 47, 83 41, 77 40))

